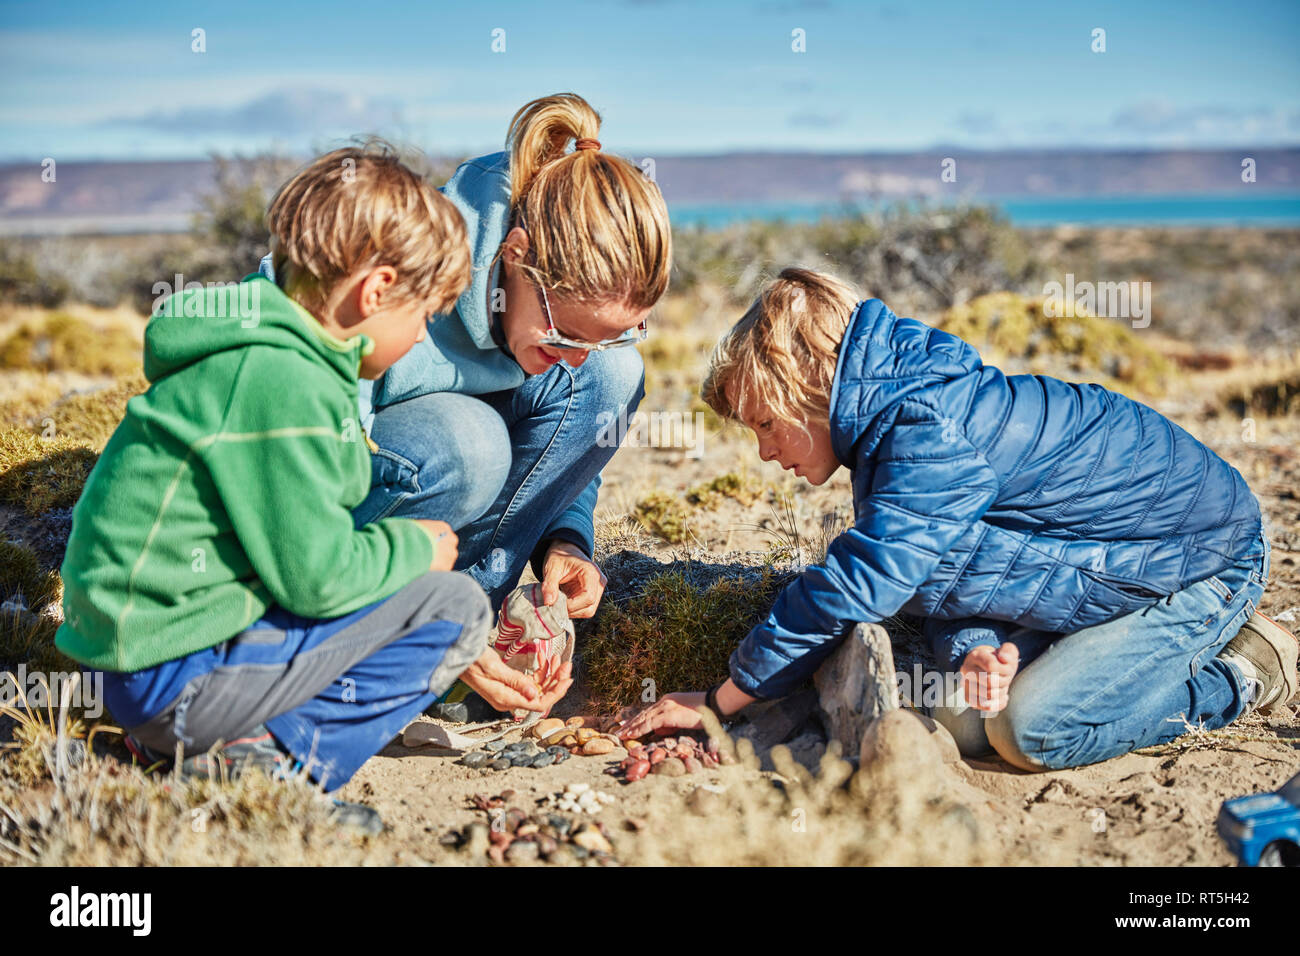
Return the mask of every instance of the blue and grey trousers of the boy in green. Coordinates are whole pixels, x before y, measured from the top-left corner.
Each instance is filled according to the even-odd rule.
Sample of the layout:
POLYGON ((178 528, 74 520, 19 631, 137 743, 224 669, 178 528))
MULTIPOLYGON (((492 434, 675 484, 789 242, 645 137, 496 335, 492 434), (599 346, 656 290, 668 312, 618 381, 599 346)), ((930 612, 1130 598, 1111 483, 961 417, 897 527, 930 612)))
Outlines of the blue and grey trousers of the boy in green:
POLYGON ((334 791, 488 648, 491 615, 465 575, 433 571, 351 614, 272 607, 234 637, 131 672, 105 672, 113 718, 188 756, 257 724, 334 791))

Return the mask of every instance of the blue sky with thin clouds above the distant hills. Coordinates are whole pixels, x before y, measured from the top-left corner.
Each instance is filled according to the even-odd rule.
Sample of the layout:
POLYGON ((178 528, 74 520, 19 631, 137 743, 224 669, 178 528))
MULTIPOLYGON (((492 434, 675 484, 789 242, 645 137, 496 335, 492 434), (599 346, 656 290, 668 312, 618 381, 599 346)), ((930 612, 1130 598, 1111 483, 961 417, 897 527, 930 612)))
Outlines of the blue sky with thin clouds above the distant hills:
POLYGON ((0 160, 462 155, 562 90, 625 155, 1296 144, 1297 48, 1297 0, 5 0, 0 160))

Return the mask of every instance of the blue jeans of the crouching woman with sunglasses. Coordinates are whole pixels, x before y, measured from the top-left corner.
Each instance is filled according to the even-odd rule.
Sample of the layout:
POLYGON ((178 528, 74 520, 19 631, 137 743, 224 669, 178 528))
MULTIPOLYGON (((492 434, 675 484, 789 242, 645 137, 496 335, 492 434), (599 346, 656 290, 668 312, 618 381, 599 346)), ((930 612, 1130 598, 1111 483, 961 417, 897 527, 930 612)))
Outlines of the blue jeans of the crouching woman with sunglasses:
POLYGON ((456 570, 498 609, 556 522, 569 528, 560 537, 592 546, 593 481, 618 450, 598 437, 644 395, 641 355, 629 347, 589 352, 577 368, 562 362, 511 392, 436 392, 380 407, 370 493, 352 518, 446 522, 460 537, 456 570))

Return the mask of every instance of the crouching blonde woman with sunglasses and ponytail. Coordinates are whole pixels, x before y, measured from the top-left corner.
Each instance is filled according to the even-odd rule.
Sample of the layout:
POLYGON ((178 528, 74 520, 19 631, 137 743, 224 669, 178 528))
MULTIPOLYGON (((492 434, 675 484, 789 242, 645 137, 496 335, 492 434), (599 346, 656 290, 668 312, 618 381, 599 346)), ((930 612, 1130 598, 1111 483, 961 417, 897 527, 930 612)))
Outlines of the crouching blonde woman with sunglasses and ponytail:
POLYGON ((378 447, 358 524, 447 522, 456 570, 494 609, 529 559, 575 618, 604 588, 592 512, 616 445, 598 423, 628 420, 645 394, 636 345, 671 234, 658 186, 599 131, 581 96, 545 96, 511 120, 506 151, 456 170, 442 194, 465 220, 471 285, 361 397, 378 447))

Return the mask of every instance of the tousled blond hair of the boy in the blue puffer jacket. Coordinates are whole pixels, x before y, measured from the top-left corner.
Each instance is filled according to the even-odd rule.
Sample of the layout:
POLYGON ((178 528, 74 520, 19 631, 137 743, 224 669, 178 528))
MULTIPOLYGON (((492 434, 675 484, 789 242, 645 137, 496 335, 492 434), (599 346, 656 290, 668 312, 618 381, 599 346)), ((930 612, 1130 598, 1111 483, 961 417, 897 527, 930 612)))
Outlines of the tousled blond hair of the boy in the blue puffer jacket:
POLYGON ((835 276, 781 269, 714 347, 705 402, 737 421, 754 398, 790 424, 829 418, 840 343, 859 299, 835 276))

